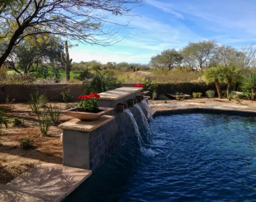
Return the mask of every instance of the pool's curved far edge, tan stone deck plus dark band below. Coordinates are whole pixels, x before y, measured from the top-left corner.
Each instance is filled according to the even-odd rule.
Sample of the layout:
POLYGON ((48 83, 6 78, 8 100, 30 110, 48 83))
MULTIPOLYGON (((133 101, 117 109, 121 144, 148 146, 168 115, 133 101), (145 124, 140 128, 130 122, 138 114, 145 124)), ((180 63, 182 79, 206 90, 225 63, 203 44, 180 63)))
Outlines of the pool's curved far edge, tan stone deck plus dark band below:
POLYGON ((207 111, 207 112, 232 112, 236 114, 246 114, 256 116, 255 106, 240 106, 240 105, 221 105, 221 104, 205 104, 195 102, 176 102, 167 104, 152 104, 149 105, 152 109, 152 114, 161 115, 169 113, 183 113, 183 112, 194 112, 194 111, 207 111))

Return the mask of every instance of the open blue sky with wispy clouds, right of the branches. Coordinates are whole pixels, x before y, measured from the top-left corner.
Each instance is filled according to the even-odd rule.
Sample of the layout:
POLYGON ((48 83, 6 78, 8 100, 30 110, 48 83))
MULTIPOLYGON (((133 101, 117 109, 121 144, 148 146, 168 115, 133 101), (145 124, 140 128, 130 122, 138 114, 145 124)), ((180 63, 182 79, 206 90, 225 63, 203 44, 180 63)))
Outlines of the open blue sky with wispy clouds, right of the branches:
POLYGON ((163 49, 182 48, 189 42, 214 39, 241 48, 256 44, 256 0, 146 0, 132 10, 135 17, 110 16, 124 38, 108 47, 83 45, 70 50, 73 61, 97 60, 145 63, 163 49))

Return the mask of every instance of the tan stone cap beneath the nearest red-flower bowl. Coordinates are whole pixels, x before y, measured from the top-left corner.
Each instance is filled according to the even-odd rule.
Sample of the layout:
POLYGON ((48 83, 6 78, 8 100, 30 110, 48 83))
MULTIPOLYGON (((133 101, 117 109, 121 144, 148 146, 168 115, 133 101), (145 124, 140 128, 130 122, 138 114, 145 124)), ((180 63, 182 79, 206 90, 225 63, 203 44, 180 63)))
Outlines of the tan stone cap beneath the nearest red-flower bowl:
POLYGON ((115 119, 115 116, 110 115, 103 115, 102 117, 93 121, 81 121, 79 119, 72 119, 70 121, 60 124, 58 127, 67 130, 91 132, 113 119, 115 119))

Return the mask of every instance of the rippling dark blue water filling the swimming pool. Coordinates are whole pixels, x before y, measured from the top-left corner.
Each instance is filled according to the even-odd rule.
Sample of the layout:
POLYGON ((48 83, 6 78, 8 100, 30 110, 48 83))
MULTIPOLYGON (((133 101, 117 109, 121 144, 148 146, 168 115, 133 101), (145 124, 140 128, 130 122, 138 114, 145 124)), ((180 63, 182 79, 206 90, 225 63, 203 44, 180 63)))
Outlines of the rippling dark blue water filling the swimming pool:
POLYGON ((256 201, 256 118, 192 113, 154 120, 158 134, 146 153, 134 137, 66 201, 256 201))

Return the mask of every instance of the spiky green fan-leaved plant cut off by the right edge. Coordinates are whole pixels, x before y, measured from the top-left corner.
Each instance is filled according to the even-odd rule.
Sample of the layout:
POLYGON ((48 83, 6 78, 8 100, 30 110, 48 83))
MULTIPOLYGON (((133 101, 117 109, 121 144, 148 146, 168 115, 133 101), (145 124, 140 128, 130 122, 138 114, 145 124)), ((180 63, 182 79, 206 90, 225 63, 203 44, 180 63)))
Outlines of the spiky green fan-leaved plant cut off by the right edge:
POLYGON ((252 90, 252 100, 255 100, 256 94, 256 72, 249 71, 242 76, 241 79, 241 88, 251 89, 252 90))

